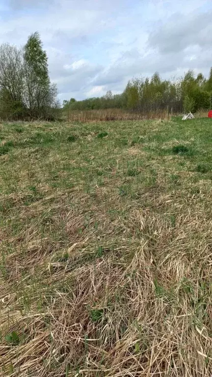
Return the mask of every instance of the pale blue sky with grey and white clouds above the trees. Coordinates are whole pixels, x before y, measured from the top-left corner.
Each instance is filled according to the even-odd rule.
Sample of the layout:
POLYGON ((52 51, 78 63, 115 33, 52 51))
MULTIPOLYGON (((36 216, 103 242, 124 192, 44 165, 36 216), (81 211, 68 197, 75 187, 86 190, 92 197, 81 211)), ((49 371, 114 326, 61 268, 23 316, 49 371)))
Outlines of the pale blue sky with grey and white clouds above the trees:
POLYGON ((212 0, 0 0, 0 43, 36 30, 61 100, 212 66, 212 0))

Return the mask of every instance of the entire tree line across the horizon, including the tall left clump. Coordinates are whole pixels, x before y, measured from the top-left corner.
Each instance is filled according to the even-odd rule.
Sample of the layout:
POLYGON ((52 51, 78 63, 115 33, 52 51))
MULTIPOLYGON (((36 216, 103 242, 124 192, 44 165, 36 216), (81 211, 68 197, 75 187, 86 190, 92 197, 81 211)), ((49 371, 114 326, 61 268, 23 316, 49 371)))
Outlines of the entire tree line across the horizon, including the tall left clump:
MULTIPOLYGON (((51 84, 48 58, 38 32, 29 35, 21 48, 0 46, 0 118, 53 119, 60 114, 57 87, 51 84)), ((133 78, 123 93, 63 102, 64 113, 72 110, 123 109, 132 112, 196 112, 208 110, 212 98, 212 68, 209 78, 195 77, 189 70, 184 77, 162 80, 156 72, 151 78, 133 78)))

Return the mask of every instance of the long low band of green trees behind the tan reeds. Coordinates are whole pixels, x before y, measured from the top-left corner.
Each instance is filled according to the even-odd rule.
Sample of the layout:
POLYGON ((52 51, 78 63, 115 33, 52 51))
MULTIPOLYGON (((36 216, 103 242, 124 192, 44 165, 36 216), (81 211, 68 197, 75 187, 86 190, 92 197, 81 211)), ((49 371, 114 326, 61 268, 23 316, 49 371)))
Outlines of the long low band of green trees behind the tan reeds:
POLYGON ((156 72, 151 79, 132 79, 122 94, 113 95, 111 91, 107 91, 103 97, 83 101, 71 98, 70 101, 64 101, 63 109, 70 112, 121 108, 147 113, 168 108, 173 113, 187 113, 208 110, 211 96, 212 68, 208 80, 201 73, 195 77, 191 70, 177 80, 162 80, 156 72))

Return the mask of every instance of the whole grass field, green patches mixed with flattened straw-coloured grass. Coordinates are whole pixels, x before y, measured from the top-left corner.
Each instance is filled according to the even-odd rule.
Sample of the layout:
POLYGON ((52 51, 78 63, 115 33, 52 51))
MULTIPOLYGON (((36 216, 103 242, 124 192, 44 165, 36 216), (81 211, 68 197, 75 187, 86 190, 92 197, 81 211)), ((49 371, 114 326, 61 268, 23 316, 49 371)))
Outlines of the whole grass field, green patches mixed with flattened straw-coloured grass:
POLYGON ((0 376, 212 376, 212 120, 0 124, 0 376))

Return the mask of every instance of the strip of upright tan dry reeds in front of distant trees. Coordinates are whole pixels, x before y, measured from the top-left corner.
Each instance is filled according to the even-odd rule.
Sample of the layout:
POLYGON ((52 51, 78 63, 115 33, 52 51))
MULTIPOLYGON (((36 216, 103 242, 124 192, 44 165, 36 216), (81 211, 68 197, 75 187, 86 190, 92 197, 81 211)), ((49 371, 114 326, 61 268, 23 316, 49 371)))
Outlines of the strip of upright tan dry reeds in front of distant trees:
POLYGON ((171 115, 167 110, 158 110, 150 113, 134 113, 121 109, 105 110, 73 110, 67 113, 69 121, 79 122, 99 122, 108 120, 143 120, 143 119, 170 119, 171 115))

